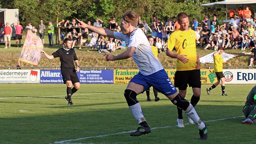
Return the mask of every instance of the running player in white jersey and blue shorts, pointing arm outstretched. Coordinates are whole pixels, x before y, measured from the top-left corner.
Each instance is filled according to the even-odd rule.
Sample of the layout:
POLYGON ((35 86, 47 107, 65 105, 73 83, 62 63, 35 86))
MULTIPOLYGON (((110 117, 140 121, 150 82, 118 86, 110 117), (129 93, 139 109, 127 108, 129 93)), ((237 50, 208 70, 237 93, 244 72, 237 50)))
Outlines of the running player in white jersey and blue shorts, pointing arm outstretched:
POLYGON ((162 64, 153 55, 146 35, 141 29, 136 28, 138 16, 134 11, 127 11, 123 15, 121 21, 122 32, 113 32, 106 28, 89 26, 80 20, 78 20, 78 22, 80 22, 78 27, 88 28, 100 35, 124 40, 127 43, 128 48, 123 53, 117 56, 105 54, 107 61, 122 60, 132 57, 134 62, 138 65, 139 73, 131 79, 124 91, 124 97, 129 109, 139 123, 138 129, 135 132, 131 132, 130 136, 140 136, 151 132, 136 96, 153 86, 158 92, 169 98, 174 105, 186 111, 186 114, 199 128, 200 139, 207 139, 208 133, 206 125, 201 121, 194 107, 179 95, 168 78, 162 64))

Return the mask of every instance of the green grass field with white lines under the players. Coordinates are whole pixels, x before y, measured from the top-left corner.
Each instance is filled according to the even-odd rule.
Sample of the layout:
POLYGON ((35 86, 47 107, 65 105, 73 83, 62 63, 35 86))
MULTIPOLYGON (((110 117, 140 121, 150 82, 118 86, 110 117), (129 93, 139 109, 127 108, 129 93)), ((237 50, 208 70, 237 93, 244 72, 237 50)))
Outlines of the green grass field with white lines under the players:
MULTIPOLYGON (((82 84, 72 96, 74 105, 64 99, 64 84, 0 84, 1 144, 253 144, 255 125, 241 124, 246 96, 254 85, 220 86, 208 96, 202 85, 201 99, 195 107, 208 126, 208 139, 199 141, 196 125, 177 128, 177 108, 164 95, 147 102, 137 96, 152 128, 151 134, 129 136, 137 121, 123 96, 126 85, 82 84), (67 140, 67 141, 65 141, 67 140)), ((151 98, 153 90, 151 88, 151 98)), ((188 88, 186 99, 192 96, 188 88)), ((184 121, 187 116, 183 113, 184 121)))

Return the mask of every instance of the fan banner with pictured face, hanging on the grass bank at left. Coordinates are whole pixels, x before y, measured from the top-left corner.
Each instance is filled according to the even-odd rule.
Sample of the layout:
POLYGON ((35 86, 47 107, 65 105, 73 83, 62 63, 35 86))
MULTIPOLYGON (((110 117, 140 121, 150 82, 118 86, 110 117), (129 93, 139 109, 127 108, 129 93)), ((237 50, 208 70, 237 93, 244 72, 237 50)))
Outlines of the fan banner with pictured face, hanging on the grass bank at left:
POLYGON ((41 58, 40 49, 43 49, 43 47, 44 45, 41 39, 35 33, 28 31, 19 60, 29 64, 38 65, 41 58))

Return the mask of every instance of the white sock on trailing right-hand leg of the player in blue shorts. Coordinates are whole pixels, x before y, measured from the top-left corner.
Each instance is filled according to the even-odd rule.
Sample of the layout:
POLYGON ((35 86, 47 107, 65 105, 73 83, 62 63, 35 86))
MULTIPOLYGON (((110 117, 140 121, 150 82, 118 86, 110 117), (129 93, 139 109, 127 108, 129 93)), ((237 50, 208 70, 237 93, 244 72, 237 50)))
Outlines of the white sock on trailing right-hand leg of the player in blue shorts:
POLYGON ((189 104, 189 107, 186 110, 186 114, 187 114, 187 116, 189 116, 194 121, 194 123, 197 124, 197 127, 199 129, 205 127, 205 125, 202 121, 199 123, 200 118, 197 115, 196 110, 194 109, 194 107, 192 106, 191 103, 189 104))

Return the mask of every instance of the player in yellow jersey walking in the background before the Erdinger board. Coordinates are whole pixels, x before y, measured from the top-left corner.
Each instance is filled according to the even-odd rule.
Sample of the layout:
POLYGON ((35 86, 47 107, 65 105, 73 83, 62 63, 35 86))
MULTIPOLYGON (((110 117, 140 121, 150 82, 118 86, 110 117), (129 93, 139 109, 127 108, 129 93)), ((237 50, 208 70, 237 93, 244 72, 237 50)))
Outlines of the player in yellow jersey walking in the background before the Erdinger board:
POLYGON ((224 52, 224 48, 219 46, 219 49, 216 53, 213 54, 213 61, 214 61, 214 72, 217 77, 217 82, 213 84, 210 88, 207 88, 207 94, 210 95, 210 91, 214 89, 221 81, 221 91, 223 96, 227 96, 225 93, 225 77, 223 76, 223 64, 231 65, 228 62, 224 62, 221 57, 221 54, 224 52))

